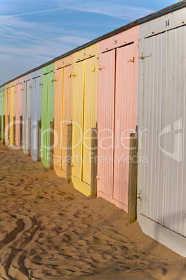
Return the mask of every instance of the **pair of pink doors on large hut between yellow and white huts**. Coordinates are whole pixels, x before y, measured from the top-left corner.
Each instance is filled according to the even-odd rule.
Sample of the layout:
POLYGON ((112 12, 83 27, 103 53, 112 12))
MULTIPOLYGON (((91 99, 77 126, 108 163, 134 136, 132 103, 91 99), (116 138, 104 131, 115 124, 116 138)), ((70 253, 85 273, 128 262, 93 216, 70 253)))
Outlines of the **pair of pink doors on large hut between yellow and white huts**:
POLYGON ((137 125, 137 55, 132 43, 99 60, 98 195, 126 211, 129 137, 137 125))

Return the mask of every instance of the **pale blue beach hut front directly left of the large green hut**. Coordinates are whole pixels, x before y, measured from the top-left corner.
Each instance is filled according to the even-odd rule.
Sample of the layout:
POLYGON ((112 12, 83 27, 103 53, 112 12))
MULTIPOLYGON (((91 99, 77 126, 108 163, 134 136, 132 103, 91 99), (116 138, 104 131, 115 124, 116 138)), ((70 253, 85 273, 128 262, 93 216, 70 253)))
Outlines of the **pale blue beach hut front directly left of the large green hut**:
POLYGON ((40 121, 42 102, 42 70, 31 73, 31 156, 40 160, 40 121))

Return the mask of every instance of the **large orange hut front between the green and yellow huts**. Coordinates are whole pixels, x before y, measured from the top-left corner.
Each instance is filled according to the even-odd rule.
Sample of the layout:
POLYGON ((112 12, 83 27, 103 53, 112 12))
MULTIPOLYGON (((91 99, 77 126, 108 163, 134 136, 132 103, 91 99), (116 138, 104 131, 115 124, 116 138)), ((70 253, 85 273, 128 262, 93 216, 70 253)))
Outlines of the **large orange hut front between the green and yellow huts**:
POLYGON ((58 176, 67 177, 67 124, 72 119, 72 56, 55 63, 53 164, 58 176))

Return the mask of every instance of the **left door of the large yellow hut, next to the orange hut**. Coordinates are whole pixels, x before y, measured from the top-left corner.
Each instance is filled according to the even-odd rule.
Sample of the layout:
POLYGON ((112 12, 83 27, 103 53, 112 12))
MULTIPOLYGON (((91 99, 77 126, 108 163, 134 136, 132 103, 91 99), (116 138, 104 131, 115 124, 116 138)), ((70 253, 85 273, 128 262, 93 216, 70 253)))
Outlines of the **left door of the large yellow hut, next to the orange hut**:
POLYGON ((80 61, 75 65, 74 73, 74 118, 72 126, 72 176, 82 180, 83 159, 83 108, 84 108, 84 64, 80 61))

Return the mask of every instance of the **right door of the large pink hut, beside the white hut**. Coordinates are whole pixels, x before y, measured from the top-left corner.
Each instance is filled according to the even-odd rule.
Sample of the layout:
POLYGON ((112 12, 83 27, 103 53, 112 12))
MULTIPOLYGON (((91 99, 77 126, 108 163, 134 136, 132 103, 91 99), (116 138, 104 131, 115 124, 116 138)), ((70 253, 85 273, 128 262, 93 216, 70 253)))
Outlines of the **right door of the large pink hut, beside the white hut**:
MULTIPOLYGON (((128 205, 130 133, 137 124, 137 54, 134 43, 117 49, 113 199, 128 205)), ((136 160, 136 159, 134 159, 136 160)))

